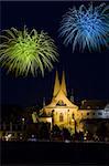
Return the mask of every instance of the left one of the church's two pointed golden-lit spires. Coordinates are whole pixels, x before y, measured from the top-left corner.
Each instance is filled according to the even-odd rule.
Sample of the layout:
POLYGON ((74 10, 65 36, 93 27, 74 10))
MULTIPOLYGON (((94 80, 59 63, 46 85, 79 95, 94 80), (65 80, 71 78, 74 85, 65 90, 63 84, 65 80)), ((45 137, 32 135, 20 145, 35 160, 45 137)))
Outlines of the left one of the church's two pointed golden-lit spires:
POLYGON ((54 93, 53 96, 55 97, 59 91, 59 80, 58 80, 58 73, 56 71, 56 76, 55 76, 55 84, 54 84, 54 93))

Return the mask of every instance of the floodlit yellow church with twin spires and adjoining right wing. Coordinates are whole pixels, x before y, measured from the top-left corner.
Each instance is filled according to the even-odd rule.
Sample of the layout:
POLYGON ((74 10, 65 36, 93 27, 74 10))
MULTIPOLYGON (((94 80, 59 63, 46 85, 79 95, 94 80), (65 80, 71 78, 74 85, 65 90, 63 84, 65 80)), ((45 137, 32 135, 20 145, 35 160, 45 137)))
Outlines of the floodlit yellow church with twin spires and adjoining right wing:
POLYGON ((65 73, 63 72, 62 82, 59 83, 58 73, 56 71, 52 102, 45 105, 40 113, 41 115, 39 117, 36 117, 35 112, 32 114, 34 123, 36 123, 36 118, 39 118, 40 122, 51 123, 51 127, 57 125, 61 128, 66 127, 74 132, 75 129, 79 132, 84 129, 83 120, 109 118, 109 106, 97 110, 91 107, 79 108, 67 97, 65 73))

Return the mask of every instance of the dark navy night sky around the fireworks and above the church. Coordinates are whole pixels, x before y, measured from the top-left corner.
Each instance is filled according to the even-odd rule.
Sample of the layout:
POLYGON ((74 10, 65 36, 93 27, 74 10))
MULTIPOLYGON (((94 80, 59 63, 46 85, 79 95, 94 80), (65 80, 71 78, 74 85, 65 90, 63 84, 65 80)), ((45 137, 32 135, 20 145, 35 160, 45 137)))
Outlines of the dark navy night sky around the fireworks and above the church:
MULTIPOLYGON (((87 2, 84 2, 87 6, 87 2)), ((94 2, 100 4, 101 2, 94 2)), ((108 2, 107 2, 108 3, 108 2)), ((2 2, 1 29, 14 27, 22 29, 24 24, 32 30, 48 32, 59 53, 59 62, 54 63, 52 72, 46 71, 45 76, 14 77, 1 70, 1 103, 31 106, 42 103, 43 96, 48 102, 52 97, 55 70, 65 70, 67 90, 74 89, 75 100, 109 98, 109 51, 99 52, 75 51, 72 46, 65 48, 58 38, 58 28, 62 15, 73 6, 81 2, 2 2)))

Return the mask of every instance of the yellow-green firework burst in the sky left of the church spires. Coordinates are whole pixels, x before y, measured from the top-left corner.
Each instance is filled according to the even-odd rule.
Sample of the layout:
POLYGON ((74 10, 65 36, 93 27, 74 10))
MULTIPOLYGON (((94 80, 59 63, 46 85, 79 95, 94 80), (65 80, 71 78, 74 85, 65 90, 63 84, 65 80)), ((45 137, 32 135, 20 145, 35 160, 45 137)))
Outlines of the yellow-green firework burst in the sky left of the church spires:
POLYGON ((57 61, 57 48, 47 33, 39 33, 33 29, 30 33, 24 27, 23 31, 14 28, 4 30, 0 38, 0 63, 8 72, 15 75, 35 75, 37 71, 44 75, 44 70, 51 71, 53 62, 57 61))

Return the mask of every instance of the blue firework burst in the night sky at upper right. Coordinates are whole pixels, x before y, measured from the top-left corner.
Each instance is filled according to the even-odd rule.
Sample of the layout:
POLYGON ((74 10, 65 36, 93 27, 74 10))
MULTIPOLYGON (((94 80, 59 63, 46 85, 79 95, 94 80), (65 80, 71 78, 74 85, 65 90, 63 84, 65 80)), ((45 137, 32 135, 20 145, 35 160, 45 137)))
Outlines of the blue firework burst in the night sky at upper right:
POLYGON ((89 4, 88 9, 81 4, 68 10, 63 15, 59 35, 64 38, 64 44, 73 44, 73 52, 76 45, 84 51, 101 50, 101 46, 109 46, 109 6, 101 3, 98 7, 89 4))

